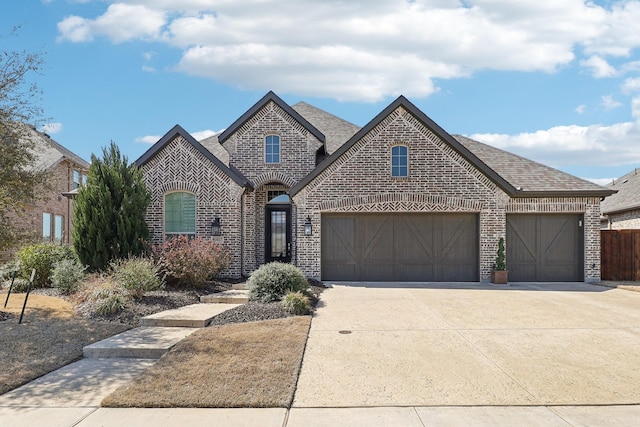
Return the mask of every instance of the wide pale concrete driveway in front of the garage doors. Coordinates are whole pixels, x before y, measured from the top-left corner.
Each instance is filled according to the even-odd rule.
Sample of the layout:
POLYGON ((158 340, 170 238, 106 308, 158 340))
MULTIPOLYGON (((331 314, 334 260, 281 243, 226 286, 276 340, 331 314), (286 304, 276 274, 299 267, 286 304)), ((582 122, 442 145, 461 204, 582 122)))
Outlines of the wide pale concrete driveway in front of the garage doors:
POLYGON ((640 403, 640 292, 334 284, 294 407, 640 403))

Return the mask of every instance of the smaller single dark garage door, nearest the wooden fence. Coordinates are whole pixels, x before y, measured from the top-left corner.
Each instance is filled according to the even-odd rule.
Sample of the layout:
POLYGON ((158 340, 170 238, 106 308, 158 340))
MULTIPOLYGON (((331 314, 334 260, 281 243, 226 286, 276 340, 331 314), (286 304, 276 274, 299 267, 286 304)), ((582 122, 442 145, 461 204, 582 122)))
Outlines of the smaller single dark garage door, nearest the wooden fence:
POLYGON ((507 215, 509 281, 582 281, 582 223, 582 215, 507 215))

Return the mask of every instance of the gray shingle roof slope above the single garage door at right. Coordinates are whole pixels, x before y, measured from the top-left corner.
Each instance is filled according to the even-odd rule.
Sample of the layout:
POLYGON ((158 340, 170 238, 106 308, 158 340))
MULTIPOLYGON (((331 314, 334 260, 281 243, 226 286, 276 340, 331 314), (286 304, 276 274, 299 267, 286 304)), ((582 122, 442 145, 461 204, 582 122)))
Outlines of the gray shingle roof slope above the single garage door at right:
POLYGON ((453 137, 509 184, 516 189, 520 188, 523 194, 536 192, 606 193, 607 191, 607 188, 601 185, 482 142, 461 135, 453 135, 453 137))

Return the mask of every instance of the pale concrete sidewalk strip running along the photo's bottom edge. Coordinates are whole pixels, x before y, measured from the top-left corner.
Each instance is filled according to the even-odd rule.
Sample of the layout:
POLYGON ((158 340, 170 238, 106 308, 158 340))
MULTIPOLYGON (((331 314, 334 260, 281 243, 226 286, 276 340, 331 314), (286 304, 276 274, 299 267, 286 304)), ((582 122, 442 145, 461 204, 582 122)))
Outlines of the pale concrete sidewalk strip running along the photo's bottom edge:
POLYGON ((372 408, 0 407, 2 427, 635 426, 640 406, 372 408))

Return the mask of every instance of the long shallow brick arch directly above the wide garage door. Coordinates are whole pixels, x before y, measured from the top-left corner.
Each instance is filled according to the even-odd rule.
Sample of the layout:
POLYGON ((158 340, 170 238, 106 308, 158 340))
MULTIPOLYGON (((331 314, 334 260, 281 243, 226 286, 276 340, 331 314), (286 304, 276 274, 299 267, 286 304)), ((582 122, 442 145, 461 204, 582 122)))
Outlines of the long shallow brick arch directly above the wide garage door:
POLYGON ((322 212, 480 212, 483 203, 456 197, 390 193, 323 202, 322 212))

